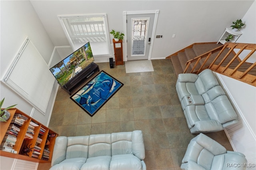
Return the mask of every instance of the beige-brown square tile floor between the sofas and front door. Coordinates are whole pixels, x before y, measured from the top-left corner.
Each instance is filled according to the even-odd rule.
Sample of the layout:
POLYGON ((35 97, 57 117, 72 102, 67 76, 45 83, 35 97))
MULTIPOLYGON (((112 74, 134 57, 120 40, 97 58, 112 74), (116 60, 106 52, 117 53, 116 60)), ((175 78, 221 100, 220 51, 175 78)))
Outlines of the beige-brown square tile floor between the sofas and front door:
MULTIPOLYGON (((126 73, 125 65, 110 69, 97 63, 124 86, 90 117, 59 89, 49 128, 59 136, 81 136, 142 130, 147 169, 180 169, 191 134, 175 89, 176 75, 169 59, 152 60, 154 72, 126 73)), ((230 142, 222 130, 207 133, 228 150, 230 142)), ((39 164, 38 169, 47 169, 39 164)), ((48 168, 50 166, 48 165, 48 168)))

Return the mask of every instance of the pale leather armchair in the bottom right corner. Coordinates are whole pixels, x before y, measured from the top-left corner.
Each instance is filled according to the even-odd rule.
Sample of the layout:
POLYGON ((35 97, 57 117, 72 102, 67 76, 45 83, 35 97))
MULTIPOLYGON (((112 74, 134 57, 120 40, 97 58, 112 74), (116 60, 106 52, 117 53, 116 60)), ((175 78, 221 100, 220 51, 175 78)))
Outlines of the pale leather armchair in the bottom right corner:
POLYGON ((227 151, 221 144, 200 133, 188 144, 182 170, 245 170, 247 160, 240 152, 227 151))

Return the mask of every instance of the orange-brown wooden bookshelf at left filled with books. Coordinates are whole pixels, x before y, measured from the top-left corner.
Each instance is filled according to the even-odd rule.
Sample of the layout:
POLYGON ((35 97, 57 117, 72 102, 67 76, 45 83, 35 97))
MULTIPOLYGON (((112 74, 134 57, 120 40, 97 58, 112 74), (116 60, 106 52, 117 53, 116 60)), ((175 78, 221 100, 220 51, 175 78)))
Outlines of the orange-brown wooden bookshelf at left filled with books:
POLYGON ((4 140, 4 136, 8 135, 8 134, 6 134, 6 132, 7 132, 7 130, 10 129, 10 125, 13 124, 12 119, 16 116, 15 114, 24 115, 25 117, 28 118, 28 120, 24 121, 24 124, 19 127, 20 131, 18 132, 18 135, 16 136, 17 140, 15 142, 15 145, 12 148, 17 152, 17 154, 0 150, 0 156, 6 156, 6 157, 10 157, 10 158, 16 158, 16 159, 22 159, 22 160, 28 160, 28 161, 40 162, 40 163, 51 162, 55 139, 58 136, 58 134, 16 108, 9 109, 8 111, 10 112, 10 119, 8 119, 7 122, 0 122, 1 144, 4 140), (30 125, 31 122, 36 123, 38 126, 34 127, 34 134, 32 134, 33 138, 26 138, 27 130, 28 130, 29 126, 31 127, 31 125, 30 125), (37 138, 39 138, 39 139, 37 139, 37 138), (47 140, 50 141, 50 144, 48 144, 48 145, 46 145, 47 140), (40 142, 38 142, 38 141, 40 141, 40 142), (41 148, 38 158, 32 157, 35 146, 41 148), (30 148, 31 151, 24 153, 24 150, 23 150, 24 148, 30 148), (48 160, 43 160, 43 152, 44 152, 45 148, 47 148, 47 150, 49 152, 48 160))

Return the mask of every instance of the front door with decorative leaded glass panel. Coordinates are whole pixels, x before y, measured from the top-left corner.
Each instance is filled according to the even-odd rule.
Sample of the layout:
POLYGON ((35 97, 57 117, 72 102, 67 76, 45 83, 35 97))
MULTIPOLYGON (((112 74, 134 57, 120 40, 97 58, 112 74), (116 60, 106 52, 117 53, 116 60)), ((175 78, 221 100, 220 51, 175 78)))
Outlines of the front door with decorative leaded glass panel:
POLYGON ((149 58, 155 14, 129 14, 127 17, 127 60, 149 58))

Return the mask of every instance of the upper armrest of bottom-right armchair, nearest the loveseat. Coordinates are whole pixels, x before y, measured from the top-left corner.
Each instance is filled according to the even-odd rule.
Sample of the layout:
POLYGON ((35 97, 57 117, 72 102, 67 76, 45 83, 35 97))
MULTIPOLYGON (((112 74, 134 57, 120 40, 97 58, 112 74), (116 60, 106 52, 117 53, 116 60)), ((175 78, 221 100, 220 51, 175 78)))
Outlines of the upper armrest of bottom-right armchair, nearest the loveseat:
MULTIPOLYGON (((193 140, 193 139, 192 139, 193 140)), ((206 136, 203 133, 198 134, 194 138, 198 144, 200 144, 202 147, 206 148, 208 151, 210 151, 214 155, 224 154, 227 152, 226 148, 213 140, 212 138, 206 136)))

